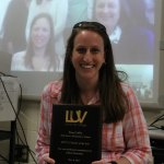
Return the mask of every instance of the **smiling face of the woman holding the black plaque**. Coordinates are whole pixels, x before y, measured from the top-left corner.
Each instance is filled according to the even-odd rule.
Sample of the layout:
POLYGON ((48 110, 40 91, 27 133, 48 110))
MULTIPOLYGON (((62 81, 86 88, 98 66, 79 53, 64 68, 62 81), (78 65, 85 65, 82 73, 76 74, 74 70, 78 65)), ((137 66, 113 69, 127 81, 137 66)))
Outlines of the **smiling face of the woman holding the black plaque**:
POLYGON ((91 31, 81 31, 74 38, 72 65, 78 81, 98 81, 99 69, 105 62, 104 40, 91 31))

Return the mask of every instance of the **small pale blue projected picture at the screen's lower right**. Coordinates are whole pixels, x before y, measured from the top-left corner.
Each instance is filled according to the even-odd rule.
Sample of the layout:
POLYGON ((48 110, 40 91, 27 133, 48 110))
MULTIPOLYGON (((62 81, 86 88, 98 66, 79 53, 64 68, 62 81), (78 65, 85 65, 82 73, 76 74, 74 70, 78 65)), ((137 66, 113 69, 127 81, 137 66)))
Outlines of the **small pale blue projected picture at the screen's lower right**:
POLYGON ((153 97, 153 65, 116 65, 116 68, 128 74, 127 83, 139 101, 153 97))

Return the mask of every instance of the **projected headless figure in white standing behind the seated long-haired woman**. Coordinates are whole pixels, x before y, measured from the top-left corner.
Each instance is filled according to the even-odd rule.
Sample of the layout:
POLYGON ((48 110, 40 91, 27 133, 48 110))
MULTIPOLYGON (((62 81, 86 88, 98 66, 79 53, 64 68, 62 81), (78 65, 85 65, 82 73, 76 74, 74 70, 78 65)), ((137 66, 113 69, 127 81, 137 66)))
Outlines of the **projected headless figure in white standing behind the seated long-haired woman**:
POLYGON ((55 32, 55 50, 58 56, 63 57, 66 48, 62 32, 67 21, 68 0, 33 0, 26 23, 26 39, 28 39, 31 23, 39 13, 49 13, 51 15, 55 32))

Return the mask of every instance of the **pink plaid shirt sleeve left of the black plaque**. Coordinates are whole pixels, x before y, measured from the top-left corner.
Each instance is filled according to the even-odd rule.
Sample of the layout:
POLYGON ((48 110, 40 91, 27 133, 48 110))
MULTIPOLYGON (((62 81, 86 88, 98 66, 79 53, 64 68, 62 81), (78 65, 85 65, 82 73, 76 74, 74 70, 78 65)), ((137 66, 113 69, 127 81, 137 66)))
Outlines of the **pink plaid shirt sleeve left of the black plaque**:
POLYGON ((42 104, 40 104, 40 125, 38 129, 38 136, 36 141, 36 159, 38 164, 44 163, 44 157, 49 156, 49 143, 50 143, 50 132, 49 132, 49 107, 50 102, 49 98, 46 95, 47 89, 46 86, 44 89, 43 97, 42 97, 42 104))

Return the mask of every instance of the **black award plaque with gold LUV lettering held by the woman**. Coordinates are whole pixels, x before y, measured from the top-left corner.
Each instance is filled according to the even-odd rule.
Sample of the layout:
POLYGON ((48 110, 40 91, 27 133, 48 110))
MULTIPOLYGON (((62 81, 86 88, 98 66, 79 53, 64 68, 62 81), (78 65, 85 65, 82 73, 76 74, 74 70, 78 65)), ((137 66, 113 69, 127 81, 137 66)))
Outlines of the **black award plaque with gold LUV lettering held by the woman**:
POLYGON ((102 159, 101 106, 52 106, 49 157, 56 164, 91 164, 102 159))

